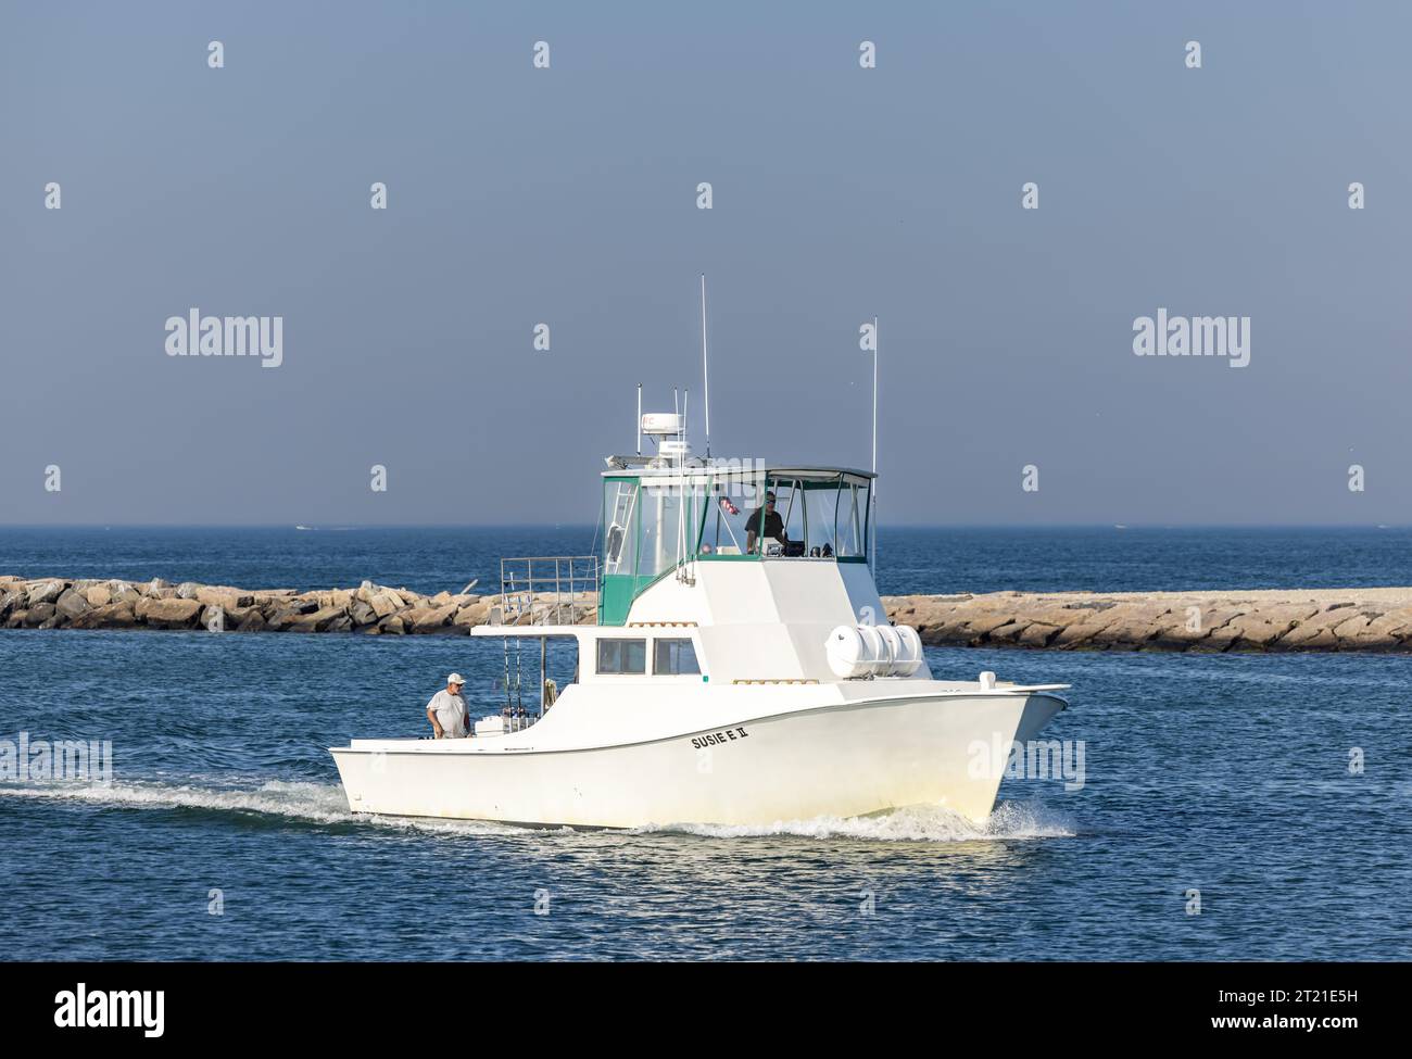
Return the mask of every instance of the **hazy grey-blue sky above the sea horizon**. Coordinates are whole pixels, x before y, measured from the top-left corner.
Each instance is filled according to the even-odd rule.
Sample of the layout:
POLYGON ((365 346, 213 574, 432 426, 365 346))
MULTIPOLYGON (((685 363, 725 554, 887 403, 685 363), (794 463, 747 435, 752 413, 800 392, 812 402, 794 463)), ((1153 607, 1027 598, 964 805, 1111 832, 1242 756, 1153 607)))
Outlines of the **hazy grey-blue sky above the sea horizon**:
POLYGON ((702 271, 717 455, 866 466, 881 318, 892 522, 1412 522, 1412 8, 1158 8, 6 3, 0 524, 589 521, 702 271))

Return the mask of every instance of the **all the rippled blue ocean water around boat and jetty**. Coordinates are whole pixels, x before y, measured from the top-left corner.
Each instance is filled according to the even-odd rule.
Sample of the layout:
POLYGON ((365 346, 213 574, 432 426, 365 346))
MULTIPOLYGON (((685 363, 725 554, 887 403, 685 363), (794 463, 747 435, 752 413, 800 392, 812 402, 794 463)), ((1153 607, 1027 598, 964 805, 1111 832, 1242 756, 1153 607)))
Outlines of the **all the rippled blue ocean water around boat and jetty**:
MULTIPOLYGON (((575 532, 0 531, 0 572, 439 589, 493 576, 500 551, 579 551, 575 532)), ((1169 532, 902 531, 882 585, 1406 583, 1405 531, 1169 532)), ((1046 734, 1083 741, 1082 789, 1007 779, 986 826, 932 809, 648 832, 383 822, 349 813, 326 748, 418 734, 449 669, 497 710, 500 644, 0 631, 0 738, 114 754, 110 786, 0 785, 0 953, 1412 956, 1406 658, 928 655, 939 676, 1072 683, 1046 734)))

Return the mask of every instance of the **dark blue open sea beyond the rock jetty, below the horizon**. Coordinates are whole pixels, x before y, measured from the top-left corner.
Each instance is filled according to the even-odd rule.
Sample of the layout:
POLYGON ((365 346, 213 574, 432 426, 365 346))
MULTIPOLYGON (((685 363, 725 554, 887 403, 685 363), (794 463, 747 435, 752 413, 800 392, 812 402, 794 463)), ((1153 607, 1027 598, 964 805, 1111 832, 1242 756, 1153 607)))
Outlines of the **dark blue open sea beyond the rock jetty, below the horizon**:
MULTIPOLYGON (((587 555, 582 527, 0 528, 0 573, 246 589, 500 586, 500 559, 587 555)), ((1412 528, 884 528, 882 594, 1412 583, 1412 528)))

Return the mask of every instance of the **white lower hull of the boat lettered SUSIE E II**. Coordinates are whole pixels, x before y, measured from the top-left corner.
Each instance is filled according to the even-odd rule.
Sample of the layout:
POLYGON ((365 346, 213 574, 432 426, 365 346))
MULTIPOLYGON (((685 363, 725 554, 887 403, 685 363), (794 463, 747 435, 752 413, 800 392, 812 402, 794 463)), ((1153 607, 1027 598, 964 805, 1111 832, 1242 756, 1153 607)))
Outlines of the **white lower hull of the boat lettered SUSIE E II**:
POLYGON ((953 693, 795 709, 589 748, 356 740, 330 753, 354 812, 642 827, 943 805, 980 820, 994 806, 1005 765, 1003 753, 987 758, 980 747, 1025 743, 1063 707, 1043 692, 953 693))

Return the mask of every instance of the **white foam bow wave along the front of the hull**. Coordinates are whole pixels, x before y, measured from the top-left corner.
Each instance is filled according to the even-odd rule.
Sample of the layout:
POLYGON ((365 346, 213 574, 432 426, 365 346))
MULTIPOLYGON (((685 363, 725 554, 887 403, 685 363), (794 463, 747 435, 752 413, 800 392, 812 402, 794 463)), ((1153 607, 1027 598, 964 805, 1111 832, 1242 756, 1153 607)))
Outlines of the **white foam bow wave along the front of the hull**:
POLYGON ((722 826, 682 823, 644 830, 683 832, 713 839, 794 834, 805 839, 867 839, 873 842, 980 842, 995 839, 1069 839, 1073 820, 1038 802, 1001 802, 983 822, 970 820, 940 805, 914 805, 873 816, 816 816, 812 820, 779 820, 771 825, 722 826))

